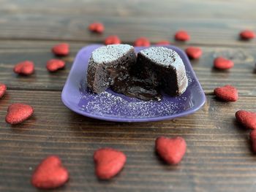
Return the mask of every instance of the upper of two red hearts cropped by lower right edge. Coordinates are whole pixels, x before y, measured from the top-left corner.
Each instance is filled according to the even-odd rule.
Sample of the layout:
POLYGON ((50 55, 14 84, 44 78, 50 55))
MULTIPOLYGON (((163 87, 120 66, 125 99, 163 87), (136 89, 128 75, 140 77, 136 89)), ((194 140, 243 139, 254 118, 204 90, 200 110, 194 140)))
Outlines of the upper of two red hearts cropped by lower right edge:
POLYGON ((256 112, 239 110, 236 112, 236 120, 246 128, 256 129, 256 112))

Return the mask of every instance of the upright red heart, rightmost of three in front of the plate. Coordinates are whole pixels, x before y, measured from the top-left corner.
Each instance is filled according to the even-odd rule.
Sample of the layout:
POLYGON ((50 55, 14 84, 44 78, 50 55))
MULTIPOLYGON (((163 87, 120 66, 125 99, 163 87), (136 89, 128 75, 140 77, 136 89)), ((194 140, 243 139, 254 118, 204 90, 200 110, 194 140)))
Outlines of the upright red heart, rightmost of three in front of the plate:
POLYGON ((187 144, 182 137, 158 137, 155 145, 157 153, 167 164, 178 164, 187 149, 187 144))

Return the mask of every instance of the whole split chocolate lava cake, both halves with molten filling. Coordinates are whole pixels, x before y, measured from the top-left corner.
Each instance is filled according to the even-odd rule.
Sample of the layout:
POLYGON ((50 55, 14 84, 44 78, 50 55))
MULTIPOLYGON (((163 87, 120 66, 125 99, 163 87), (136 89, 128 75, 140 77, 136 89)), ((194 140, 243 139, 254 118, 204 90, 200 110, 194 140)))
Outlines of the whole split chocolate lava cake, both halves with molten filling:
POLYGON ((184 93, 188 80, 178 53, 151 47, 138 53, 129 45, 99 47, 91 55, 88 87, 94 93, 111 88, 117 93, 145 101, 160 100, 161 90, 170 96, 184 93))

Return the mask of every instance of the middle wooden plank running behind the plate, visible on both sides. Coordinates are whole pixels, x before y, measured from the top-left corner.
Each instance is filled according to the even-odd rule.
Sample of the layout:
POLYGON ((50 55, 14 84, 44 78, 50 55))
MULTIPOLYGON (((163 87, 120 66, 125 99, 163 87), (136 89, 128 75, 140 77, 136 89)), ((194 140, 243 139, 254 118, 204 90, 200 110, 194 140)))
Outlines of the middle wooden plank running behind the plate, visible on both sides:
MULTIPOLYGON (((71 54, 64 58, 67 67, 57 73, 49 73, 45 63, 53 58, 50 47, 57 42, 38 41, 0 41, 0 82, 7 84, 10 89, 57 90, 61 91, 72 66, 75 54, 83 43, 71 43, 71 54), (31 77, 20 77, 12 72, 12 67, 19 61, 32 60, 36 65, 36 73, 31 77)), ((187 46, 180 46, 184 49, 187 46)), ((256 96, 256 76, 254 48, 232 47, 202 47, 203 57, 192 61, 197 77, 206 94, 213 93, 217 86, 235 85, 240 95, 256 96), (218 72, 213 69, 214 58, 223 55, 234 61, 235 66, 228 72, 218 72)))

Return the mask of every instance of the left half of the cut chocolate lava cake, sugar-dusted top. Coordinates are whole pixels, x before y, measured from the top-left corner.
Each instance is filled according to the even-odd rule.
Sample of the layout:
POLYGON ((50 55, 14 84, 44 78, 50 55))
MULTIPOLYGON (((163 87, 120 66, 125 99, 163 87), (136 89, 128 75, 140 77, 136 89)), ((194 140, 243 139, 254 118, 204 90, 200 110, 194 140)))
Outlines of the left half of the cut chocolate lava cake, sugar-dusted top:
POLYGON ((88 87, 102 93, 114 82, 123 82, 136 64, 136 53, 130 45, 107 45, 91 53, 87 70, 88 87))

